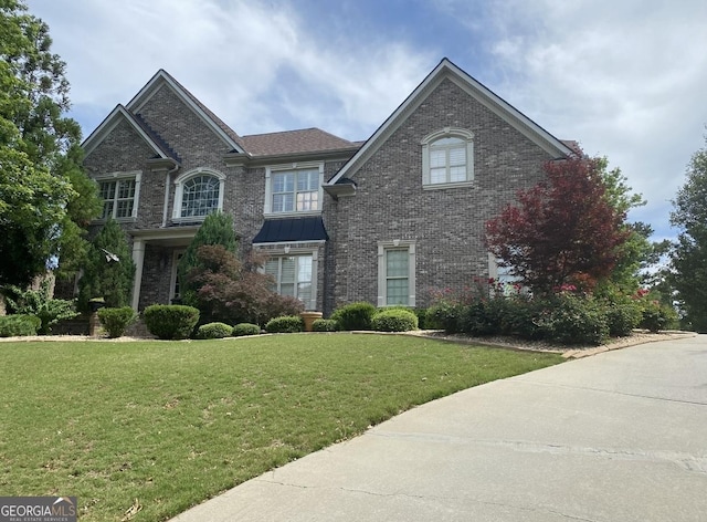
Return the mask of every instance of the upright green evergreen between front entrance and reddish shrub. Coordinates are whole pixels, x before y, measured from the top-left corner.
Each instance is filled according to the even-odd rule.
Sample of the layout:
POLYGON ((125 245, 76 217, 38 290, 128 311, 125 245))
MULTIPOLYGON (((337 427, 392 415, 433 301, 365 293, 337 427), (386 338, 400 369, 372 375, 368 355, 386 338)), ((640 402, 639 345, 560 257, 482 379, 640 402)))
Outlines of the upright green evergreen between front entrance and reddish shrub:
POLYGON ((202 261, 199 260, 199 248, 204 244, 220 244, 226 251, 236 253, 238 238, 233 230, 233 217, 230 213, 214 212, 207 216, 179 260, 177 276, 179 278, 180 296, 182 302, 189 306, 198 307, 199 304, 197 297, 199 283, 189 274, 194 269, 202 267, 202 261))

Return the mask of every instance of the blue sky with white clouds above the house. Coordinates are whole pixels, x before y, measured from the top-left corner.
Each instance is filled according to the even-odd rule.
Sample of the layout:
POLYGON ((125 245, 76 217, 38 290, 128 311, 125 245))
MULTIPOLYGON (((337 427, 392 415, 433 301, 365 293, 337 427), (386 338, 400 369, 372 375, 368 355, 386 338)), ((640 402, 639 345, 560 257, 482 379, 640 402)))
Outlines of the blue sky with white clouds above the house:
POLYGON ((449 58, 668 215, 705 145, 705 0, 29 0, 87 136, 165 69, 241 135, 368 138, 449 58))

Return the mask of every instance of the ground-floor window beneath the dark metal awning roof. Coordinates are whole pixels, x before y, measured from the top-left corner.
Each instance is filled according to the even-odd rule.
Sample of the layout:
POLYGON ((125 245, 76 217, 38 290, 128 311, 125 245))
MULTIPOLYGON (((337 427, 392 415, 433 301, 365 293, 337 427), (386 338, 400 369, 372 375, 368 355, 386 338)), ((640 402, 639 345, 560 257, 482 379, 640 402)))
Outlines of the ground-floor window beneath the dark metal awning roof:
POLYGON ((315 257, 309 253, 272 257, 265 261, 264 269, 275 280, 274 292, 297 297, 312 310, 315 307, 315 257))

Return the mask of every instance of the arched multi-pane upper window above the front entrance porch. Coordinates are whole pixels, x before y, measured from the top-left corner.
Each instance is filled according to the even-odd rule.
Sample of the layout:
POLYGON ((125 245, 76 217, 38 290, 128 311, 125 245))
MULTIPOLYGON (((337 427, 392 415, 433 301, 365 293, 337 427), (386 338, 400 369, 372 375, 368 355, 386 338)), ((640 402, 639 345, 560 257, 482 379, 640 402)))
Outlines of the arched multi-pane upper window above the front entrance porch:
POLYGON ((175 180, 176 220, 203 220, 223 207, 225 176, 214 170, 190 170, 175 180))

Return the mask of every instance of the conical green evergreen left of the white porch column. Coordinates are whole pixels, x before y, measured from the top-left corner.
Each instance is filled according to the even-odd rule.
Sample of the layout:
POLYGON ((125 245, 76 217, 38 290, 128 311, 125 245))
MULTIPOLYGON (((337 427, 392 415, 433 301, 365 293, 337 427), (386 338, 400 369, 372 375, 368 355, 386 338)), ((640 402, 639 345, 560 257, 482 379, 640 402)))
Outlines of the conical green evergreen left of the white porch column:
POLYGON ((134 276, 135 262, 125 232, 117 221, 108 219, 88 248, 78 280, 80 310, 86 310, 88 301, 96 297, 103 297, 110 307, 129 305, 134 276))

